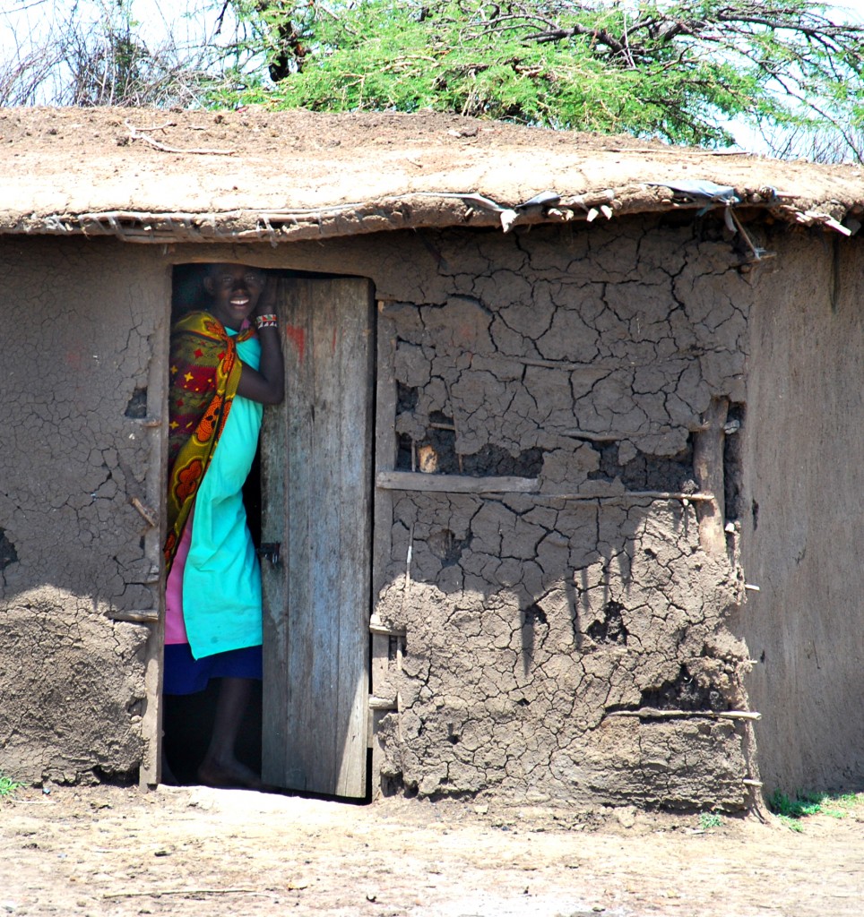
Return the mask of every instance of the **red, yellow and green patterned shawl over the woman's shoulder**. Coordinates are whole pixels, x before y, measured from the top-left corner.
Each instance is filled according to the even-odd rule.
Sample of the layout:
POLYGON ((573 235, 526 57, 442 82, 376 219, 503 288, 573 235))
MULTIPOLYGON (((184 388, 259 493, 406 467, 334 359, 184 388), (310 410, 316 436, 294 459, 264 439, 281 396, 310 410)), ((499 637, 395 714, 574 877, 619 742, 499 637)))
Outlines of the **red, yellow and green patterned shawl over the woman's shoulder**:
POLYGON ((164 546, 168 570, 237 392, 241 374, 237 342, 253 334, 250 327, 231 337, 208 312, 184 315, 172 329, 164 546))

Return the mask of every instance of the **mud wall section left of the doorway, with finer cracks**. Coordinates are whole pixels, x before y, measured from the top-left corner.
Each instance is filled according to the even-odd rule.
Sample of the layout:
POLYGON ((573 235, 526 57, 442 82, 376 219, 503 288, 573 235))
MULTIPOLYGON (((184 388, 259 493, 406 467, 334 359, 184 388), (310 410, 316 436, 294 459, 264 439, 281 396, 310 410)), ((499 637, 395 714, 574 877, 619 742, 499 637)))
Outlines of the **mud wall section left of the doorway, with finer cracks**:
POLYGON ((156 673, 135 619, 159 608, 158 255, 0 239, 0 770, 17 779, 134 777, 148 751, 156 673))

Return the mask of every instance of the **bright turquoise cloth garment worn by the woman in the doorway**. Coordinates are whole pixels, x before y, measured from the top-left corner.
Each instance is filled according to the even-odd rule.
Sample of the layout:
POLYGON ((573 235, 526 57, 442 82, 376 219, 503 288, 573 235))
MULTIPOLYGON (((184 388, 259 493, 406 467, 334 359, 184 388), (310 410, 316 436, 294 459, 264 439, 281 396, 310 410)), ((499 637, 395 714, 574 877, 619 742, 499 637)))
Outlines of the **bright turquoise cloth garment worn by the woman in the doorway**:
MULTIPOLYGON (((257 338, 241 341, 237 352, 243 363, 258 369, 257 338)), ((183 576, 186 635, 196 659, 261 645, 261 567, 246 524, 242 487, 258 448, 263 413, 262 404, 235 396, 196 495, 183 576)))

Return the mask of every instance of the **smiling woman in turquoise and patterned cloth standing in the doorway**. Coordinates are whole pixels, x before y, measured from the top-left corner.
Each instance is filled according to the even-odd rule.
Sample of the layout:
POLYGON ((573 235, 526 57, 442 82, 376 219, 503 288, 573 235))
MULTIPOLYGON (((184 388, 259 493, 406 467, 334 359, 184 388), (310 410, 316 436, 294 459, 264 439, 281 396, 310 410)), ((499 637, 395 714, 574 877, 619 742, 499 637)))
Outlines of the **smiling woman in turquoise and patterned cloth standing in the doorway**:
POLYGON ((191 694, 221 679, 198 779, 260 788, 234 746, 261 679, 261 569, 242 486, 263 405, 284 396, 275 283, 257 268, 213 264, 204 288, 208 308, 184 315, 171 338, 163 691, 191 694))

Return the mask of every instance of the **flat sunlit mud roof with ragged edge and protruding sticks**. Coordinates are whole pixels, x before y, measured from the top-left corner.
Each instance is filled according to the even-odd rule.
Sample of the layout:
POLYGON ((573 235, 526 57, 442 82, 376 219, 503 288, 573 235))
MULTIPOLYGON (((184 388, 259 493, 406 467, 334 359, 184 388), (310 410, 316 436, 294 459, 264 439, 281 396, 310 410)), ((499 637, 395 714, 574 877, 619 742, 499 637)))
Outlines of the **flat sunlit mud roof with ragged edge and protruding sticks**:
POLYGON ((277 243, 706 207, 848 235, 864 171, 427 112, 0 109, 0 233, 277 243))

